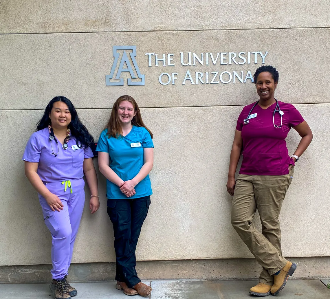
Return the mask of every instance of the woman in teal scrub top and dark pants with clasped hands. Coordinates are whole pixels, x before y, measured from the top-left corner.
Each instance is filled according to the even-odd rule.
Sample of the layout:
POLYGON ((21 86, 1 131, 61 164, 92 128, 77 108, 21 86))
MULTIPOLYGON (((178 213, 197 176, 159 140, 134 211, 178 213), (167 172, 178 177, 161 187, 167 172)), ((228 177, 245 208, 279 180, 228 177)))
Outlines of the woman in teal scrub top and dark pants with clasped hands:
POLYGON ((107 212, 114 226, 117 289, 148 296, 151 287, 137 276, 135 249, 152 194, 152 133, 129 95, 120 96, 102 131, 96 150, 99 169, 107 178, 107 212))

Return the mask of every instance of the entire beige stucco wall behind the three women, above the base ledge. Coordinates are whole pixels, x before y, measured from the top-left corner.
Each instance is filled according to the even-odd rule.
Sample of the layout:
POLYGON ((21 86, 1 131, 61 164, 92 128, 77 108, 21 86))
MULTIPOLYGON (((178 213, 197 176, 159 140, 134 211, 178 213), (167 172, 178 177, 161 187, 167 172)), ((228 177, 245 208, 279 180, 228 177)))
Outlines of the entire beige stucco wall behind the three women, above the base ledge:
MULTIPOLYGON (((255 87, 250 79, 198 85, 182 81, 187 69, 194 81, 195 72, 203 73, 203 80, 213 71, 246 75, 261 59, 259 55, 257 64, 251 56, 250 64, 213 65, 209 58, 205 65, 207 52, 268 51, 265 63, 279 69, 277 98, 294 103, 314 133, 283 204, 283 254, 330 255, 328 1, 278 1, 271 6, 264 1, 75 3, 0 4, 0 32, 6 33, 0 34, 0 265, 50 263, 49 232, 20 159, 43 109, 59 94, 72 100, 96 139, 119 95, 130 94, 143 107, 154 133, 155 163, 139 260, 251 256, 230 225, 231 197, 225 184, 236 119, 243 105, 256 99, 255 87), (126 80, 124 86, 106 86, 115 45, 136 46, 144 86, 127 86, 126 80), (194 66, 182 66, 180 52, 188 51, 199 57, 204 53, 203 65, 196 60, 194 66), (159 57, 173 53, 175 66, 149 67, 148 52, 159 57), (178 73, 175 85, 158 82, 161 73, 172 72, 178 73)), ((298 142, 292 130, 290 153, 298 142)), ((97 167, 97 159, 94 163, 97 167)), ((86 202, 73 262, 115 258, 105 179, 99 172, 98 177, 101 208, 90 215, 86 202)))

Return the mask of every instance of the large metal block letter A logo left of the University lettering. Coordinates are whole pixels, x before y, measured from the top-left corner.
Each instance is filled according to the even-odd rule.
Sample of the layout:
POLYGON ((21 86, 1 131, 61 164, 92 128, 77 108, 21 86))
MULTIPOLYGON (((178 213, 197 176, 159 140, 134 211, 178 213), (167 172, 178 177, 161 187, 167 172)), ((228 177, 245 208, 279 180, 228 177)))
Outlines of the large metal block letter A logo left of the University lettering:
POLYGON ((131 75, 131 78, 127 79, 127 85, 145 85, 145 77, 144 77, 144 75, 141 75, 138 64, 136 63, 136 60, 135 60, 136 46, 113 46, 113 53, 114 53, 115 61, 114 61, 114 64, 112 65, 110 75, 105 76, 106 85, 107 86, 124 85, 124 80, 122 78, 120 78, 120 75, 122 72, 129 72, 131 75), (118 58, 119 58, 119 53, 117 52, 118 50, 124 50, 123 56, 121 57, 121 61, 119 64, 117 76, 114 78, 114 79, 120 79, 120 81, 119 82, 118 81, 110 82, 110 79, 113 79, 113 77, 114 77, 115 69, 116 69, 116 66, 118 63, 118 58), (125 50, 133 50, 133 52, 129 53, 129 55, 131 56, 135 71, 136 71, 138 77, 141 79, 141 81, 139 81, 139 82, 132 82, 132 80, 131 80, 131 79, 137 79, 137 77, 135 76, 135 74, 133 72, 131 63, 128 59, 128 56, 127 56, 127 53, 125 50), (123 68, 124 63, 126 63, 127 69, 123 68))

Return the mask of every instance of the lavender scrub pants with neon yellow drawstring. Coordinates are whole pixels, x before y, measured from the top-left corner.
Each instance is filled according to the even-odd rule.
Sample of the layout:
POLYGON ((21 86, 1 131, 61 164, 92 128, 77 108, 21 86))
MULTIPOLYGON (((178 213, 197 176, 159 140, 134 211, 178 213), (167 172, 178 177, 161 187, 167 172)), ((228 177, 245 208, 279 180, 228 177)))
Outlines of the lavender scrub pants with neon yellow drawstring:
POLYGON ((46 199, 38 194, 45 224, 52 237, 51 261, 53 268, 50 273, 55 280, 63 279, 65 275, 68 275, 73 245, 78 233, 85 202, 84 180, 71 180, 70 182, 71 188, 67 187, 66 191, 64 191, 65 183, 45 183, 47 189, 61 200, 63 210, 60 212, 53 212, 46 199))

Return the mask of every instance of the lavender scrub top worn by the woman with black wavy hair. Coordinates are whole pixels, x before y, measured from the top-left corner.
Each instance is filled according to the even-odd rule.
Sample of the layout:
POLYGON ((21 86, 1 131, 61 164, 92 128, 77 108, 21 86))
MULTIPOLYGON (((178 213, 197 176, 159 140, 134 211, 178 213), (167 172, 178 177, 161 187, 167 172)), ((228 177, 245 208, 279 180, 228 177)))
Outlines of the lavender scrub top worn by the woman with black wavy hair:
POLYGON ((22 160, 38 162, 38 175, 45 183, 62 182, 74 179, 82 179, 82 164, 85 158, 92 158, 93 152, 90 148, 75 150, 77 141, 70 137, 68 149, 63 150, 58 142, 52 140, 54 153, 59 152, 56 157, 52 155, 48 128, 34 132, 24 150, 22 160))

